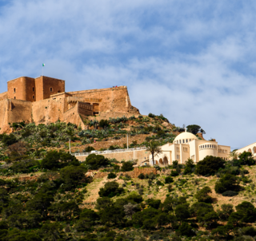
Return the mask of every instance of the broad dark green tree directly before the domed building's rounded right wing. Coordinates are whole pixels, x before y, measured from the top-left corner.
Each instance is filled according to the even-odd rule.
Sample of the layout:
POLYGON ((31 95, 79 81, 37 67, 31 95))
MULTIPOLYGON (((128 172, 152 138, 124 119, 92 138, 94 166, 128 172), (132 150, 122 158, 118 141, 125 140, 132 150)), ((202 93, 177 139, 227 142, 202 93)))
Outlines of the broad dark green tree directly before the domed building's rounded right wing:
POLYGON ((219 168, 224 168, 225 160, 216 156, 206 156, 203 160, 198 161, 195 168, 195 174, 197 175, 214 175, 219 168))

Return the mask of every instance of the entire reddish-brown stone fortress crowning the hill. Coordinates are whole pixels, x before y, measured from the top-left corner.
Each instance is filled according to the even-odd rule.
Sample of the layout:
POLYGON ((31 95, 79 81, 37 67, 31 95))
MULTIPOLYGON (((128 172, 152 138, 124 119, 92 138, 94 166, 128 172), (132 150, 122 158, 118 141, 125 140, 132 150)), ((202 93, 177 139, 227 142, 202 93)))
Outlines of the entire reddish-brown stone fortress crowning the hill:
POLYGON ((86 128, 87 116, 102 118, 138 115, 126 86, 65 92, 65 81, 52 77, 18 77, 0 93, 0 133, 25 121, 47 124, 64 121, 86 128))

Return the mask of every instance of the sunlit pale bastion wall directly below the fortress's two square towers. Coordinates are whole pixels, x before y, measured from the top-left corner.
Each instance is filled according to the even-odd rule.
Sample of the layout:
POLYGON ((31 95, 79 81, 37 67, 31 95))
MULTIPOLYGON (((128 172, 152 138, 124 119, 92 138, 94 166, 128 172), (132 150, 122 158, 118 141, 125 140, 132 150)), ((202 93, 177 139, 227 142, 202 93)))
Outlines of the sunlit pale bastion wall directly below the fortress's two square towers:
POLYGON ((32 117, 35 124, 62 121, 63 105, 64 100, 54 101, 52 99, 46 99, 34 102, 32 105, 32 117))

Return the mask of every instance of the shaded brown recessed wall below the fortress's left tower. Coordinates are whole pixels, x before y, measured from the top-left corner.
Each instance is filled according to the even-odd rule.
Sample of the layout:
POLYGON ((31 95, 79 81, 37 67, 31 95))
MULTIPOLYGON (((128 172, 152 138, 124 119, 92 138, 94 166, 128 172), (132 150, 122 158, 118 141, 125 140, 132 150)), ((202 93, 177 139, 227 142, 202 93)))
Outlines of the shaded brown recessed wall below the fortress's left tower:
POLYGON ((32 121, 32 117, 31 117, 32 102, 14 100, 14 99, 10 101, 11 101, 11 109, 6 111, 8 115, 8 123, 32 121))

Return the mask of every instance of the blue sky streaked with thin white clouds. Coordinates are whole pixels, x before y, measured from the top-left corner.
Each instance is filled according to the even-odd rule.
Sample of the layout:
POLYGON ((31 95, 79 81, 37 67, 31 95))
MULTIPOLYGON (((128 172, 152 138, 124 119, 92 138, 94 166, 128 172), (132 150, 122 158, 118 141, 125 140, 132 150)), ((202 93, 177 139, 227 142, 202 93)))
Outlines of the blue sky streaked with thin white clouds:
POLYGON ((0 93, 43 75, 66 91, 126 85, 132 105, 206 140, 256 141, 256 2, 0 0, 0 93))

